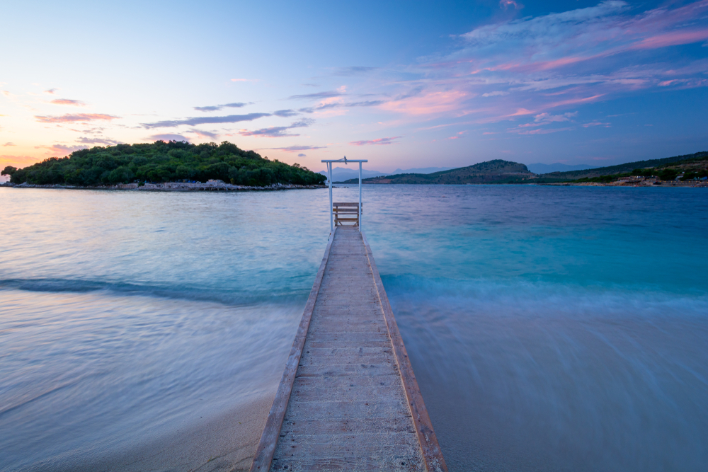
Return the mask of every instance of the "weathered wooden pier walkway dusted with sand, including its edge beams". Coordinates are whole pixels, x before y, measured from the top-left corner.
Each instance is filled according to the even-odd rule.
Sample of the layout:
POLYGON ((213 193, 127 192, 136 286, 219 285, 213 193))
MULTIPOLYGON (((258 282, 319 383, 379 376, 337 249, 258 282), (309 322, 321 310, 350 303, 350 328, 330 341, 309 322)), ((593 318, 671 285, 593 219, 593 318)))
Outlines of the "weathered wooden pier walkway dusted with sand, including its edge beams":
POLYGON ((371 249, 335 226, 251 466, 447 472, 371 249))

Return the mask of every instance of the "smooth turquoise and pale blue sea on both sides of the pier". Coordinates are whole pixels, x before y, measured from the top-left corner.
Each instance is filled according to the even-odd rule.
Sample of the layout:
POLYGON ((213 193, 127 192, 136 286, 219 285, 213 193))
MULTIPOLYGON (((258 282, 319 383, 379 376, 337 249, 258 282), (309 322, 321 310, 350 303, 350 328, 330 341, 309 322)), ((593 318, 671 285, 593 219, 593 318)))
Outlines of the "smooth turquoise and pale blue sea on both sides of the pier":
MULTIPOLYGON (((0 470, 272 394, 328 205, 1 188, 0 470)), ((450 471, 704 470, 708 192, 367 185, 363 210, 450 471)))

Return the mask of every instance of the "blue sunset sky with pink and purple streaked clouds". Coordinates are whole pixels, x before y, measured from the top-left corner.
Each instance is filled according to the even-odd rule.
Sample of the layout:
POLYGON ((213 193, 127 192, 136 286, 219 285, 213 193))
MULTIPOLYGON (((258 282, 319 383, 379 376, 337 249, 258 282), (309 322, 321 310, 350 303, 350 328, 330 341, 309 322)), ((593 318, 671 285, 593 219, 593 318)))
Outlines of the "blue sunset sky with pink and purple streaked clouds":
POLYGON ((0 57, 0 168, 157 139, 314 171, 708 150, 708 0, 5 0, 0 57))

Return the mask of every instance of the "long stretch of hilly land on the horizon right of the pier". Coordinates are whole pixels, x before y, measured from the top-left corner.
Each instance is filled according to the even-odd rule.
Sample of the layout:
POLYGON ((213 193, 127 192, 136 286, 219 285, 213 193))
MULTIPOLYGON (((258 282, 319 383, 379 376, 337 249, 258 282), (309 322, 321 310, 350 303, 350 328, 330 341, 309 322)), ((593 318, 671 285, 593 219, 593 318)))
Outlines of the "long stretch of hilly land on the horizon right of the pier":
MULTIPOLYGON (((358 183, 358 178, 336 183, 358 183)), ((365 178, 368 184, 539 184, 708 186, 708 151, 664 159, 634 161, 583 171, 535 174, 525 164, 495 159, 449 171, 402 173, 365 178)))

